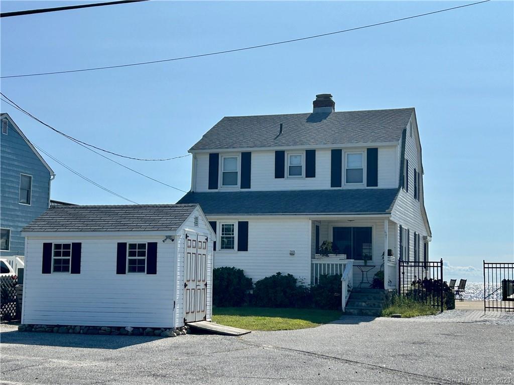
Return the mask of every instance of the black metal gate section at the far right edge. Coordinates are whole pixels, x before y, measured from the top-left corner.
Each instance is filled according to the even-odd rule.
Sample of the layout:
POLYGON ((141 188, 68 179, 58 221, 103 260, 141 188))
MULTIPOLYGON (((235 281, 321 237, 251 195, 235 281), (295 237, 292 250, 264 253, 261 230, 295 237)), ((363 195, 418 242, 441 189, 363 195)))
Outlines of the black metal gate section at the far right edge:
POLYGON ((514 312, 514 262, 484 260, 484 312, 514 312))

